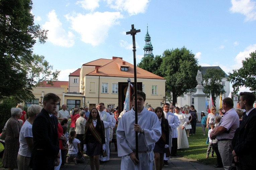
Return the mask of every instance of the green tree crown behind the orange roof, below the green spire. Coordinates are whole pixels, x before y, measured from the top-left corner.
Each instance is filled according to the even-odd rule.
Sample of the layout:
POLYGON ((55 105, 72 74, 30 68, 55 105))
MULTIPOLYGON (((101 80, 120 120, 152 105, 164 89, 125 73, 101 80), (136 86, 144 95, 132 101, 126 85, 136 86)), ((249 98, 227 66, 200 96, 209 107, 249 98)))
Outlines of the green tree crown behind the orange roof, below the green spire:
POLYGON ((159 71, 161 63, 162 58, 160 55, 156 55, 156 57, 146 56, 142 58, 141 62, 138 63, 137 66, 161 76, 161 71, 159 71))

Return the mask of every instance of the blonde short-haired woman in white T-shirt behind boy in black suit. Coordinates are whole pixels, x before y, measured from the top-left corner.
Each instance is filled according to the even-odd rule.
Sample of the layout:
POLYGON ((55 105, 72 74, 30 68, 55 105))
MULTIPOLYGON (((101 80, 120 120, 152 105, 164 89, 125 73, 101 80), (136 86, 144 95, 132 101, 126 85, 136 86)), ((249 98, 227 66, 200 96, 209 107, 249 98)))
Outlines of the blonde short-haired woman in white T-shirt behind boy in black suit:
POLYGON ((25 121, 21 127, 19 133, 19 152, 17 157, 17 164, 19 170, 28 170, 28 167, 31 157, 31 151, 33 148, 33 134, 32 134, 32 125, 37 114, 42 110, 42 107, 39 105, 30 105, 27 108, 28 119, 25 121))

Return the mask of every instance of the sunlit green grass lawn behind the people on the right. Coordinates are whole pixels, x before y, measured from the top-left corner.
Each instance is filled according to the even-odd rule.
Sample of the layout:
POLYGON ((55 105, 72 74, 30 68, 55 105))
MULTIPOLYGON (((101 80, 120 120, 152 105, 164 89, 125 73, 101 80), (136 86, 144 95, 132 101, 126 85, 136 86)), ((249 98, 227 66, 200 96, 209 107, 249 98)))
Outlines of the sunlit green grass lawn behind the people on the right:
MULTIPOLYGON (((208 147, 208 145, 205 144, 208 134, 208 129, 206 128, 205 134, 206 135, 203 136, 202 127, 196 127, 195 135, 190 135, 190 137, 188 137, 189 148, 181 149, 181 151, 177 152, 177 155, 208 165, 217 163, 216 157, 205 158, 208 147)), ((215 153, 214 155, 216 156, 215 153)))

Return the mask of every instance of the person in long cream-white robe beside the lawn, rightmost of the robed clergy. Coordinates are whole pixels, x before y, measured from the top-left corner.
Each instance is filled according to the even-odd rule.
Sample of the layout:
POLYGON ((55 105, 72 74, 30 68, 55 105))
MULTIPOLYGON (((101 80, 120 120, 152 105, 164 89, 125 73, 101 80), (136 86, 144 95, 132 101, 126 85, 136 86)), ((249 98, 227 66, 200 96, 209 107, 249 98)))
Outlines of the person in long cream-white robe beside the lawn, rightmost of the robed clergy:
POLYGON ((188 148, 189 145, 188 145, 188 140, 187 140, 187 134, 186 134, 186 130, 184 127, 187 124, 186 116, 180 112, 179 107, 175 107, 174 110, 175 110, 174 115, 178 116, 178 118, 180 120, 180 125, 177 128, 177 130, 178 130, 178 149, 188 148))

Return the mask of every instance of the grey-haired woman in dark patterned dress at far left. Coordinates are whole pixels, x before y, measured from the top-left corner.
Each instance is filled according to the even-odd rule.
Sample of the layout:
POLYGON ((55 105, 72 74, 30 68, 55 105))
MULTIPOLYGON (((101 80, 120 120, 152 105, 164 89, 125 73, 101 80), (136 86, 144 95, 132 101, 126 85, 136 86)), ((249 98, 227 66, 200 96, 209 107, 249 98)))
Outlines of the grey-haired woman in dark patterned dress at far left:
POLYGON ((5 148, 3 156, 4 167, 12 170, 17 168, 17 155, 19 151, 19 132, 21 125, 18 121, 22 115, 20 108, 11 108, 11 118, 6 126, 5 148))

